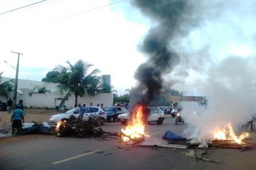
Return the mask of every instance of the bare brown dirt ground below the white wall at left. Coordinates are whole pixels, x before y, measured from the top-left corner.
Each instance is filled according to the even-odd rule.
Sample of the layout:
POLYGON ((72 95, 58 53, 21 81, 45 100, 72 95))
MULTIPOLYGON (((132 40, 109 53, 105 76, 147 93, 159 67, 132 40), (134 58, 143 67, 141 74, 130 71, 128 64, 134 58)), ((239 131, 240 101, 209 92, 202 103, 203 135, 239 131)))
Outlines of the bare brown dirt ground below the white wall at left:
MULTIPOLYGON (((25 109, 25 122, 48 122, 50 116, 57 114, 56 109, 25 109)), ((12 113, 9 114, 7 111, 0 112, 0 126, 11 125, 12 113)))

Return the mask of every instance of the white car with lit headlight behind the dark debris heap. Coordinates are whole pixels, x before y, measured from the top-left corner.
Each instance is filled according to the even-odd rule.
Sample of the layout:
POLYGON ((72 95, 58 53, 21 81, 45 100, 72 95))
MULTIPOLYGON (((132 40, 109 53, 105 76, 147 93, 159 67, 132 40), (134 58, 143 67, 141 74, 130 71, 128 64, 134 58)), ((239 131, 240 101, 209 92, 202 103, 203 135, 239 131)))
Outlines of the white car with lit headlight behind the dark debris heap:
MULTIPOLYGON (((101 115, 101 116, 103 116, 103 118, 105 120, 107 120, 107 115, 104 112, 104 110, 101 109, 101 107, 86 106, 86 107, 84 107, 84 109, 86 109, 86 110, 84 112, 84 116, 82 117, 83 121, 89 120, 89 116, 91 114, 96 114, 97 116, 101 115)), ((79 107, 69 109, 69 111, 67 111, 63 114, 54 114, 54 115, 50 116, 49 123, 57 124, 59 122, 59 120, 68 120, 70 118, 71 114, 73 114, 76 118, 78 118, 78 116, 79 116, 79 107)))

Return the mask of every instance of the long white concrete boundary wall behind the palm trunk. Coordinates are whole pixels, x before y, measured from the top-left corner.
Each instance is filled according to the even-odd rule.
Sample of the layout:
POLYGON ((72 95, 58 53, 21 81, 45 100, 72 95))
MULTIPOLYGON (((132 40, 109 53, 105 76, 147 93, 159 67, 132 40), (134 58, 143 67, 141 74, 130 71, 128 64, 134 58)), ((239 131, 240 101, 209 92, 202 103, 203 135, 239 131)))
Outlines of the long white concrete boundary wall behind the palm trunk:
MULTIPOLYGON (((12 98, 12 94, 10 94, 12 98)), ((34 108, 44 108, 44 107, 52 107, 55 108, 57 105, 61 103, 61 99, 65 95, 61 94, 52 94, 52 93, 33 93, 32 96, 28 94, 18 94, 17 95, 17 103, 18 100, 23 100, 23 104, 25 107, 34 107, 34 108)), ((78 103, 89 105, 89 103, 93 103, 93 105, 97 105, 97 103, 104 104, 104 107, 113 105, 113 94, 111 93, 99 93, 94 97, 86 96, 86 97, 78 97, 78 103)), ((65 106, 67 109, 71 109, 75 106, 75 97, 72 95, 69 97, 67 101, 65 101, 65 106)))

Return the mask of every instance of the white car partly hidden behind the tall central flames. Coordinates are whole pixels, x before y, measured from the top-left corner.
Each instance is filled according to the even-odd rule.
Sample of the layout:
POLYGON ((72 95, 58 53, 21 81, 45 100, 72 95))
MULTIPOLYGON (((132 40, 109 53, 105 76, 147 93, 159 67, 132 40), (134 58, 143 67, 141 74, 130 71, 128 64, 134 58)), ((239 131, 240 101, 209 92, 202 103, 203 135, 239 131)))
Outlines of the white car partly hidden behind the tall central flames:
MULTIPOLYGON (((163 124, 163 120, 165 119, 163 111, 159 109, 159 107, 148 107, 150 113, 148 115, 148 123, 157 122, 157 124, 163 124)), ((122 124, 127 124, 129 121, 129 113, 118 115, 118 120, 121 121, 122 124)))

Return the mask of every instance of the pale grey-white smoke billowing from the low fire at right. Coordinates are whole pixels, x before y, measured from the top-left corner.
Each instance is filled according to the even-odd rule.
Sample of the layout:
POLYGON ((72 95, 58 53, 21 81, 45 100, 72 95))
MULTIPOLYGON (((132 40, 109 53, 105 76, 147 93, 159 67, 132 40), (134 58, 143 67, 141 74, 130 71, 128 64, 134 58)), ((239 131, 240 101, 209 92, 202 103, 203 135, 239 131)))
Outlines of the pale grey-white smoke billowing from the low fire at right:
POLYGON ((256 116, 256 70, 252 72, 248 67, 253 60, 233 56, 209 69, 201 89, 208 97, 207 107, 200 109, 189 102, 183 105, 182 115, 188 124, 186 135, 212 139, 217 128, 231 123, 236 131, 241 131, 242 124, 256 116))

